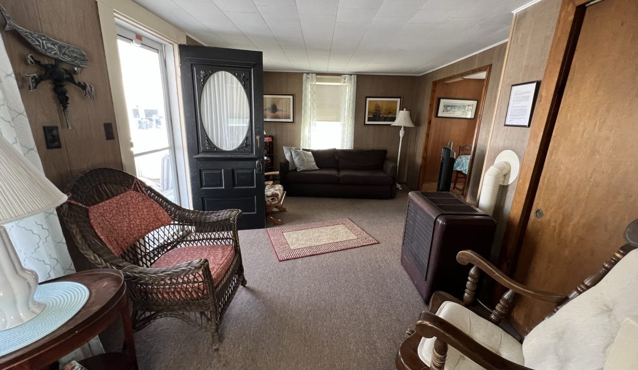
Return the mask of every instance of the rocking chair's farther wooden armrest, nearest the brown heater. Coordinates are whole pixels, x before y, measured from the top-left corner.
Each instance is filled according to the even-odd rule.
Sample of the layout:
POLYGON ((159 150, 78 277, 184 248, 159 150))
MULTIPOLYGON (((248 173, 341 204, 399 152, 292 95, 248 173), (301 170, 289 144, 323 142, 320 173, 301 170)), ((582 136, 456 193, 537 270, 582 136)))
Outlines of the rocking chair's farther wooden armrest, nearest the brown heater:
POLYGON ((496 280, 498 283, 503 285, 503 287, 508 288, 513 292, 521 294, 525 297, 556 304, 567 299, 567 295, 545 292, 544 290, 537 290, 513 280, 505 273, 500 271, 496 266, 491 264, 488 260, 484 259, 481 255, 471 250, 462 250, 461 252, 457 253, 456 260, 463 265, 473 264, 474 266, 484 271, 484 273, 491 276, 491 278, 496 280))

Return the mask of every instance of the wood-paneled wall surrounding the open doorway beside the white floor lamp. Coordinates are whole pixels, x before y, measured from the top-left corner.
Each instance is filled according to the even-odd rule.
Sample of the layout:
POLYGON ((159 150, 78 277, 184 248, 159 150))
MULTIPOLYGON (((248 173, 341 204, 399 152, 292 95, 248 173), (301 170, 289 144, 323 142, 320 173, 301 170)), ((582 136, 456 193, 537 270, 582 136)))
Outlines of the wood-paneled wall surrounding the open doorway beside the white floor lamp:
POLYGON ((491 128, 491 117, 494 114, 494 105, 496 104, 496 94, 498 92, 498 82, 501 77, 501 69, 503 68, 503 60, 505 59, 505 43, 489 48, 484 52, 472 55, 466 59, 460 60, 449 66, 445 66, 426 75, 417 77, 415 86, 415 111, 412 120, 417 127, 410 135, 410 139, 403 141, 408 146, 408 155, 406 155, 406 180, 408 187, 417 189, 419 183, 419 169, 421 166, 421 154, 426 136, 427 112, 429 110, 430 94, 432 83, 441 78, 458 75, 472 69, 492 65, 489 81, 487 82, 487 92, 484 101, 484 109, 482 112, 482 124, 479 130, 479 138, 474 153, 474 166, 468 184, 467 200, 470 203, 475 202, 475 198, 479 189, 480 177, 482 173, 482 163, 485 158, 487 149, 487 138, 491 128))

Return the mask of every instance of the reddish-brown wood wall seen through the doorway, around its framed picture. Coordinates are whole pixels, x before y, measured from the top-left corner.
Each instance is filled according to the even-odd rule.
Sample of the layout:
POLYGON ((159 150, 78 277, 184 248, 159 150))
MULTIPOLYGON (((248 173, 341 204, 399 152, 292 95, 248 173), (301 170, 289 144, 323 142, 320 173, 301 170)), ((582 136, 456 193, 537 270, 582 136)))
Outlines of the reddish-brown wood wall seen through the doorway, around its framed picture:
MULTIPOLYGON (((439 82, 436 84, 434 94, 434 112, 427 134, 426 166, 424 169, 424 182, 436 183, 438 180, 441 162, 441 148, 452 140, 452 150, 458 151, 461 145, 473 145, 474 132, 479 120, 479 111, 483 102, 483 87, 485 80, 467 79, 456 82, 439 82), (458 99, 477 99, 477 113, 474 119, 461 120, 455 118, 437 118, 438 99, 441 97, 456 97, 458 99)), ((459 153, 457 153, 458 155, 459 153)), ((420 184, 419 184, 420 185, 420 184)))

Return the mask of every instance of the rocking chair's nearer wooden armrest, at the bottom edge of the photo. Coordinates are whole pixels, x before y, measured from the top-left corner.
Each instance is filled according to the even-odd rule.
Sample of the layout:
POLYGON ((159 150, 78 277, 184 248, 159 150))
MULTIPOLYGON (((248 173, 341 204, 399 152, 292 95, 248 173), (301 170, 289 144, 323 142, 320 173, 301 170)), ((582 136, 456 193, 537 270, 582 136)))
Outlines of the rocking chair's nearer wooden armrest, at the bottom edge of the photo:
POLYGON ((424 338, 440 339, 487 370, 533 370, 500 357, 461 329, 429 311, 421 313, 416 333, 424 338))

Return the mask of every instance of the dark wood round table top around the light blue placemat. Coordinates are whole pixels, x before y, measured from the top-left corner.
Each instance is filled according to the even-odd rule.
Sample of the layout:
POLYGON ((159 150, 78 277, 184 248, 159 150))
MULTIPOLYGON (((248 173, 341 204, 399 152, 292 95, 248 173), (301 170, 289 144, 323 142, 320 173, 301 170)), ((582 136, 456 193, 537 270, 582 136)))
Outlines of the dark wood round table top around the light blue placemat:
MULTIPOLYGON (((44 281, 41 284, 53 281, 75 281, 84 285, 89 289, 88 301, 68 322, 44 338, 19 350, 0 356, 0 369, 12 367, 24 362, 24 360, 43 355, 65 341, 75 339, 75 336, 79 336, 85 329, 96 324, 105 313, 114 310, 117 307, 117 303, 126 294, 126 285, 124 285, 122 273, 112 269, 82 271, 81 273, 44 281)), ((74 349, 70 348, 67 352, 71 352, 74 349)), ((62 353, 62 355, 65 354, 66 352, 62 353)), ((53 361, 55 360, 53 359, 53 361)))

